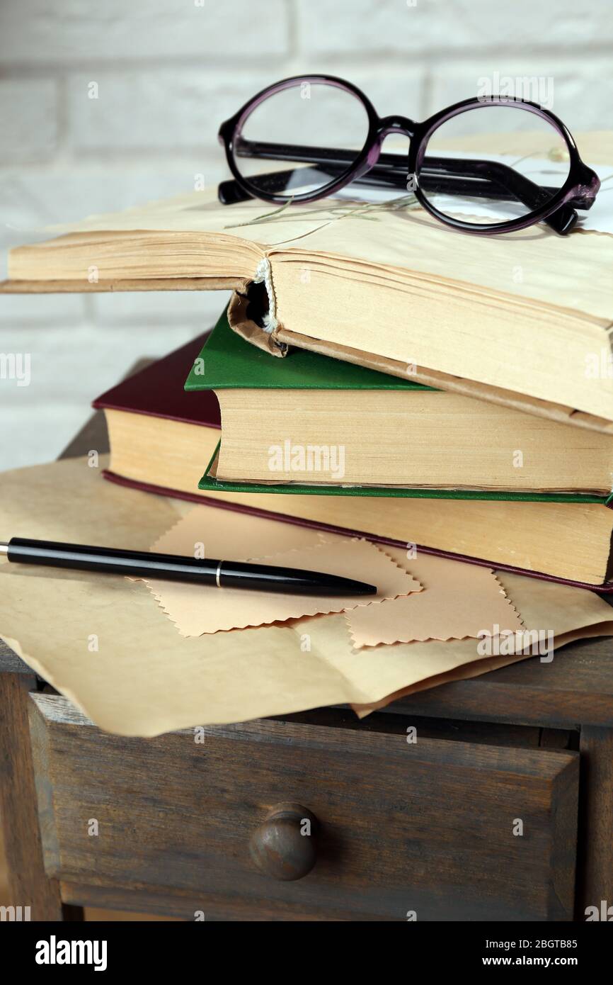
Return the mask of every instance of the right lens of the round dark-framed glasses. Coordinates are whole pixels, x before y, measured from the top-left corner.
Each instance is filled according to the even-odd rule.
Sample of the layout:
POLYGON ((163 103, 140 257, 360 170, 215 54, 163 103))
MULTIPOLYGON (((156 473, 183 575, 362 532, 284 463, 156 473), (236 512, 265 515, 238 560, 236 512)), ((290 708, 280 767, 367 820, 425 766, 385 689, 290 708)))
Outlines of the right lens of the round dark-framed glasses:
POLYGON ((521 219, 566 181, 569 152, 553 124, 519 103, 481 103, 430 136, 417 179, 439 212, 474 225, 521 219))

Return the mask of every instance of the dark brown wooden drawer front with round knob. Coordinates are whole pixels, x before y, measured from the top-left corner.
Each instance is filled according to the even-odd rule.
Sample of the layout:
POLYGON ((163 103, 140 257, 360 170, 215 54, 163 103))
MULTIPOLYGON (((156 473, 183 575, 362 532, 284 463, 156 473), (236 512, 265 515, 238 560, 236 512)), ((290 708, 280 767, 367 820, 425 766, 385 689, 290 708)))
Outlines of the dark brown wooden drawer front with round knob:
POLYGON ((272 720, 202 734, 110 736, 31 694, 45 869, 66 901, 187 919, 572 919, 577 753, 272 720), (286 802, 313 833, 289 819, 260 838, 281 869, 315 846, 294 882, 250 854, 286 802))

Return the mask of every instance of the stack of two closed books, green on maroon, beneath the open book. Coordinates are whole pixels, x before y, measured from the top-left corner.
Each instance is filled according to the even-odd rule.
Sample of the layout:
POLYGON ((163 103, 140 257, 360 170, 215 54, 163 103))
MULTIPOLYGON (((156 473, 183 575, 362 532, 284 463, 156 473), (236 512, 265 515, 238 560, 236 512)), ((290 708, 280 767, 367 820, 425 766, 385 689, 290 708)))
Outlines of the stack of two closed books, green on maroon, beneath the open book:
POLYGON ((225 314, 94 407, 113 482, 556 580, 609 577, 613 437, 597 430, 309 352, 272 360, 225 314))

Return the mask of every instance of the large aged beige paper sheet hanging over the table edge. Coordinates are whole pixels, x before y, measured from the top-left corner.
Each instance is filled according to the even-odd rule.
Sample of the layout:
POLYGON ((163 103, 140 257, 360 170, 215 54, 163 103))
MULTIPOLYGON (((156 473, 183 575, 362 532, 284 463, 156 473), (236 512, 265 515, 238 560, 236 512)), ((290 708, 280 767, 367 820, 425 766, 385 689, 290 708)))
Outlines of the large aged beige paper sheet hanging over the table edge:
MULTIPOLYGON (((148 550, 187 512, 180 500, 104 483, 98 471, 74 459, 0 475, 0 540, 148 550)), ((501 581, 527 628, 551 627, 562 641, 578 629, 613 632, 611 609, 596 595, 521 576, 501 581)), ((482 664, 473 639, 355 651, 341 615, 182 639, 142 583, 6 561, 0 634, 97 725, 133 736, 368 704, 482 664)))

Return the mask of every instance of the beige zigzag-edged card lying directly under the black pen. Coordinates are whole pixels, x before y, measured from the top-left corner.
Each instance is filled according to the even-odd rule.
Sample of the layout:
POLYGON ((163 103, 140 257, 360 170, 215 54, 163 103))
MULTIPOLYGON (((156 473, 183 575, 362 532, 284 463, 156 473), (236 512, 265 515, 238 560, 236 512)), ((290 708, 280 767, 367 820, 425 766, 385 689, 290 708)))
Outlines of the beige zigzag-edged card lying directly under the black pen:
POLYGON ((161 554, 194 557, 202 545, 205 557, 248 560, 326 571, 377 585, 377 595, 307 596, 281 592, 203 587, 163 579, 147 583, 161 609, 182 636, 201 636, 245 626, 284 623, 288 619, 370 607, 398 595, 421 590, 419 582, 396 560, 370 541, 338 537, 324 543, 316 531, 301 531, 294 542, 293 524, 265 520, 227 510, 195 506, 154 544, 161 554), (308 546, 300 541, 311 540, 308 546))

